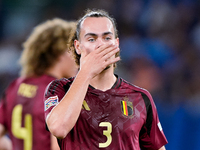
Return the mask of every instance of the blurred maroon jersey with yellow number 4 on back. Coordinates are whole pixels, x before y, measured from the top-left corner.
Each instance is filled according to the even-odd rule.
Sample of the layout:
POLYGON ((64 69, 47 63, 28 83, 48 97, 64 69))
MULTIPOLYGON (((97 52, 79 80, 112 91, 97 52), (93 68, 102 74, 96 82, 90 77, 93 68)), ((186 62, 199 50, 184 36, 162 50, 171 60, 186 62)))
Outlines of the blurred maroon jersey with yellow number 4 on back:
POLYGON ((44 118, 44 92, 54 77, 18 78, 0 103, 0 123, 9 131, 13 150, 50 150, 44 118))

